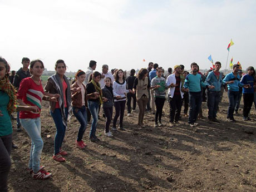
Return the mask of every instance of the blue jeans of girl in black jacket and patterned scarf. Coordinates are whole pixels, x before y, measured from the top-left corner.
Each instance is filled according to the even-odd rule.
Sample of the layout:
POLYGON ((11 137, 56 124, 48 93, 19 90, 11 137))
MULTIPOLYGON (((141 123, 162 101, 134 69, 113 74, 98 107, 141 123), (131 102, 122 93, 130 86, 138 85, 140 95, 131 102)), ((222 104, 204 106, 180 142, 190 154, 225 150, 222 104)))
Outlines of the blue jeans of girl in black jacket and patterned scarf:
POLYGON ((88 108, 92 115, 92 125, 90 131, 90 138, 95 137, 96 127, 98 124, 98 112, 99 112, 99 102, 88 101, 88 108))

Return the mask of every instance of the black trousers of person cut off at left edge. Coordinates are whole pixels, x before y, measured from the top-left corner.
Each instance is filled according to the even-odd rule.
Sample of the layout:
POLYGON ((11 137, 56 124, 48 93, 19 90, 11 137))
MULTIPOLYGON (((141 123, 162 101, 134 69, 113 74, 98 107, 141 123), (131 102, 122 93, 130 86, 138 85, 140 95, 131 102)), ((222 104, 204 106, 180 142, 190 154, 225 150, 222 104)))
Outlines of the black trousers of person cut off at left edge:
POLYGON ((12 134, 0 137, 0 191, 7 191, 8 174, 11 169, 12 134))

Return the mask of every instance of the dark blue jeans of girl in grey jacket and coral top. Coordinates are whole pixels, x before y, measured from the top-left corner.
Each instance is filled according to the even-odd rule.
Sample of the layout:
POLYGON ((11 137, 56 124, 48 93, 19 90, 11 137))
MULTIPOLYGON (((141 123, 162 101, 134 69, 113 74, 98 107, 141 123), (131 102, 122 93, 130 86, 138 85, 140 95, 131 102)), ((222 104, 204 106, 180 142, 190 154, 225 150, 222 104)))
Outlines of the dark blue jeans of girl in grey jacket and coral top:
MULTIPOLYGON (((67 108, 65 108, 66 117, 67 113, 67 108)), ((56 135, 54 139, 54 154, 56 155, 60 152, 60 148, 65 137, 66 127, 62 122, 61 110, 59 108, 56 108, 54 112, 51 111, 51 115, 56 126, 56 135)))

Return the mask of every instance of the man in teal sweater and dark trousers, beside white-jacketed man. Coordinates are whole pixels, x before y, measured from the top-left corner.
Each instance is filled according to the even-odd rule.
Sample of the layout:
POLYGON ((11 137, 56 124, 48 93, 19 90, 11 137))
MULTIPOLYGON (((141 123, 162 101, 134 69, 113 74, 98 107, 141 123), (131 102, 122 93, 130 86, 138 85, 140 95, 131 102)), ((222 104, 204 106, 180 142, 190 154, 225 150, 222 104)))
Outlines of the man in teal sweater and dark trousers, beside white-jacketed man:
POLYGON ((197 63, 191 63, 190 67, 192 72, 186 76, 182 91, 189 92, 189 125, 191 127, 195 127, 198 125, 198 123, 196 123, 196 119, 198 117, 202 102, 201 86, 210 89, 214 88, 214 86, 205 85, 201 75, 198 73, 199 66, 197 63))

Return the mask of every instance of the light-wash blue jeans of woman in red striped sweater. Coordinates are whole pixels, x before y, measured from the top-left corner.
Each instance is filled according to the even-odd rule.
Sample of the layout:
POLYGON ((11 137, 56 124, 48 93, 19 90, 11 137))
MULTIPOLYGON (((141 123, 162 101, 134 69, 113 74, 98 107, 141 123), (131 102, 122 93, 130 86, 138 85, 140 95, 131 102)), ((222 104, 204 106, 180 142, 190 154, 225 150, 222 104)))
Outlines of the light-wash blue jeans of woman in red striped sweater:
POLYGON ((41 137, 41 121, 40 117, 35 119, 20 119, 21 125, 27 131, 31 138, 31 150, 28 168, 33 169, 34 173, 40 170, 41 152, 43 150, 43 140, 41 137))

